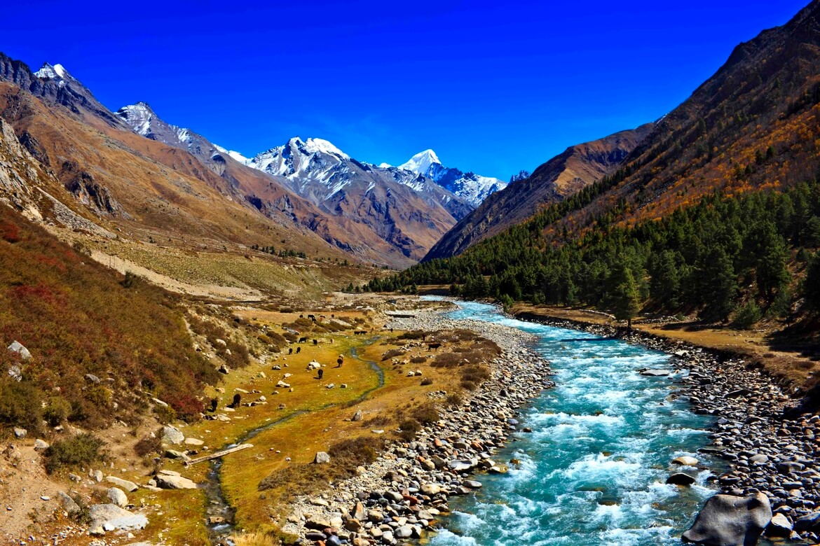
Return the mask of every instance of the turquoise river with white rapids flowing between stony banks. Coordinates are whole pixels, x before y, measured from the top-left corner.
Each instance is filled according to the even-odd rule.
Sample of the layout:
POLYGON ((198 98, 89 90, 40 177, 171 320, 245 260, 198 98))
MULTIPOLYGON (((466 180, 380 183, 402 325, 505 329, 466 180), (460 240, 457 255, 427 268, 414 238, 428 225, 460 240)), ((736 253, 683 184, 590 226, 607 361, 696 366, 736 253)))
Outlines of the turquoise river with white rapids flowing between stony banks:
POLYGON ((673 400, 673 380, 645 377, 640 368, 672 368, 670 356, 585 332, 505 317, 491 305, 458 302, 452 318, 472 318, 537 336, 556 386, 522 408, 519 426, 531 434, 496 453, 517 458, 505 475, 481 475, 475 495, 452 499, 452 517, 434 546, 543 544, 626 546, 681 544, 681 533, 715 491, 708 471, 690 487, 665 483, 680 455, 708 444, 713 417, 673 400))

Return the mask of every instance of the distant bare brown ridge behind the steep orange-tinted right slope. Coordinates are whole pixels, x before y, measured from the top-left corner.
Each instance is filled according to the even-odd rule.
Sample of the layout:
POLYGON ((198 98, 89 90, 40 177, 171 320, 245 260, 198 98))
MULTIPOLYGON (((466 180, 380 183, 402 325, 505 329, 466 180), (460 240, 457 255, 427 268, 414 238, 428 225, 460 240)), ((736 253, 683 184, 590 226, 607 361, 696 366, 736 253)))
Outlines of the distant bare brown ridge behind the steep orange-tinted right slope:
POLYGON ((652 129, 645 124, 593 142, 568 147, 540 165, 533 174, 513 176, 509 186, 488 196, 438 241, 426 259, 461 254, 477 242, 530 218, 544 205, 612 174, 652 129))

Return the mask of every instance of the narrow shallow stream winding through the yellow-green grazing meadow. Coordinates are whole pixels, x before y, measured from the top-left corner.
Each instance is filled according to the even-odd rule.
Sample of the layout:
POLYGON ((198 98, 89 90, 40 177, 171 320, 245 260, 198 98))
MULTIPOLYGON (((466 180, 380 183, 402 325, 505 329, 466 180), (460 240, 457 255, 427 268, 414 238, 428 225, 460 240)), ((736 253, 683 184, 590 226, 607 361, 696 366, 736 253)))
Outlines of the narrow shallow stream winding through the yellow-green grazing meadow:
MULTIPOLYGON (((376 341, 379 341, 379 339, 379 336, 376 336, 372 338, 370 341, 368 341, 366 345, 376 343, 376 341)), ((350 356, 353 359, 359 359, 357 347, 350 348, 350 356)), ((373 372, 376 372, 378 382, 376 383, 376 386, 373 386, 370 389, 364 391, 362 395, 359 395, 357 399, 353 400, 353 403, 361 402, 363 399, 367 398, 367 395, 370 395, 371 392, 385 385, 385 371, 380 368, 379 364, 371 360, 362 360, 362 362, 367 363, 367 366, 369 366, 373 372)), ((323 408, 319 408, 319 410, 329 408, 330 405, 332 404, 328 404, 323 408)), ((305 413, 307 413, 307 410, 300 410, 294 413, 290 413, 285 417, 280 417, 279 419, 276 419, 274 421, 266 422, 262 426, 257 426, 256 428, 246 431, 244 435, 242 435, 241 437, 239 437, 239 439, 235 441, 235 443, 225 445, 220 449, 228 449, 238 444, 244 444, 245 442, 252 440, 262 431, 266 431, 267 429, 273 426, 280 425, 283 422, 288 422, 289 420, 294 419, 295 417, 299 417, 300 415, 303 415, 305 413)), ((230 541, 227 537, 234 532, 235 509, 232 506, 230 506, 230 503, 228 503, 228 501, 225 499, 225 494, 223 494, 222 492, 222 481, 220 475, 221 467, 222 459, 213 459, 211 461, 211 468, 207 472, 207 481, 205 482, 205 484, 203 484, 203 489, 205 490, 207 503, 205 508, 205 517, 208 518, 208 521, 210 521, 209 518, 211 517, 222 518, 222 521, 220 523, 207 524, 212 544, 233 544, 232 541, 230 541)))

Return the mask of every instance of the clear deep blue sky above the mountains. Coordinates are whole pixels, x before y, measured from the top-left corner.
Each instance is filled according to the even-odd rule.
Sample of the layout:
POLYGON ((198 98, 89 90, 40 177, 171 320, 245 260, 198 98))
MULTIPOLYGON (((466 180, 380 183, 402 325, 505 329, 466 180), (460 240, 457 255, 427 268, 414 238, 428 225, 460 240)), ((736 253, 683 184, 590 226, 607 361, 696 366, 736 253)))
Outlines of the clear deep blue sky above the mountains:
POLYGON ((0 50, 245 155, 298 135, 506 179, 656 120, 807 4, 29 0, 3 7, 0 50))

